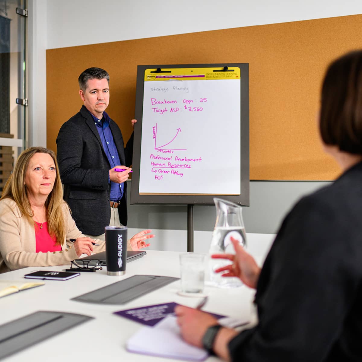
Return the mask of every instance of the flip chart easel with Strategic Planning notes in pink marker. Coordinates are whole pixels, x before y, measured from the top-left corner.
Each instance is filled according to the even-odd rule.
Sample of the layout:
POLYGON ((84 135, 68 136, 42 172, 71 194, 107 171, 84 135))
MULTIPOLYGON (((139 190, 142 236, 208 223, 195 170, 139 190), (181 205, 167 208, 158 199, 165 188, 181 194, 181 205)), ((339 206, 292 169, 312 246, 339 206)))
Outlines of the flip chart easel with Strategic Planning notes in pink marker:
POLYGON ((131 204, 249 206, 249 64, 138 66, 131 204))

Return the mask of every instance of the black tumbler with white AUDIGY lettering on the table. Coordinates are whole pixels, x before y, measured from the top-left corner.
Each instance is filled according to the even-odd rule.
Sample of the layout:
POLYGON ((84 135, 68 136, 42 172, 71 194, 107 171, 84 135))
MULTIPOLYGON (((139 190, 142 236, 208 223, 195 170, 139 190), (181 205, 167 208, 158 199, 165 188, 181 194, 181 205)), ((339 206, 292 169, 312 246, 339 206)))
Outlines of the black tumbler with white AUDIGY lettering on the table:
POLYGON ((106 262, 108 275, 126 273, 127 226, 106 226, 106 262))

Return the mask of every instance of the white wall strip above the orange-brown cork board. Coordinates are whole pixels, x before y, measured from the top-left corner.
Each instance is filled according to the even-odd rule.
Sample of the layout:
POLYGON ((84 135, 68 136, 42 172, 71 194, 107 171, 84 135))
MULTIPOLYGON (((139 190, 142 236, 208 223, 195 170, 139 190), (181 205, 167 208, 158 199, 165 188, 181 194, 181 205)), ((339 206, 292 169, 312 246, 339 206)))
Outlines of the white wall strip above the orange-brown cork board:
POLYGON ((48 0, 47 49, 361 12, 361 0, 48 0))

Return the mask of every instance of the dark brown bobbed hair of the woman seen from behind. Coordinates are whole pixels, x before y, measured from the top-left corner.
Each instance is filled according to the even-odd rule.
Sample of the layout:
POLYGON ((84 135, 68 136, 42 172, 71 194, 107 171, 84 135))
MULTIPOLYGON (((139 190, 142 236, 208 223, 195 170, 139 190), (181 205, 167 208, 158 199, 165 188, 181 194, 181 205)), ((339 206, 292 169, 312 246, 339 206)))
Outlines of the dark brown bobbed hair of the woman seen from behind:
POLYGON ((328 67, 319 126, 325 144, 362 155, 362 50, 349 52, 328 67))

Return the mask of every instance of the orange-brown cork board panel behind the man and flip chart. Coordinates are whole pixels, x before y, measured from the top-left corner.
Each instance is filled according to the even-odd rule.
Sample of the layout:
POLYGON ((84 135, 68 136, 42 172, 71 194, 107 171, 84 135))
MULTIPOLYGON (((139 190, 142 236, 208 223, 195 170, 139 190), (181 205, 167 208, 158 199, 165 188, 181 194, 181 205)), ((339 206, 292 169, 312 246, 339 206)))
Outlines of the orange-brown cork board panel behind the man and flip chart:
POLYGON ((128 140, 137 65, 249 63, 251 180, 332 180, 339 168, 316 125, 320 85, 331 60, 362 48, 361 29, 358 14, 47 50, 47 147, 80 109, 88 67, 109 72, 107 112, 128 140))

